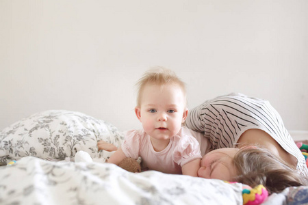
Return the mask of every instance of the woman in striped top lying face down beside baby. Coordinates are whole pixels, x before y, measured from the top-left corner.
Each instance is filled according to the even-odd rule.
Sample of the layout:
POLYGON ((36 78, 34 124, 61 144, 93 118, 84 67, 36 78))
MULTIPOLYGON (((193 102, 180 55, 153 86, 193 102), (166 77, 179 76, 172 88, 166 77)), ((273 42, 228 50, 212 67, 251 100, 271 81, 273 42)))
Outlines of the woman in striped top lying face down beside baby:
POLYGON ((270 192, 307 184, 305 158, 266 100, 243 94, 207 100, 185 125, 204 133, 213 149, 203 156, 199 177, 263 184, 270 192))

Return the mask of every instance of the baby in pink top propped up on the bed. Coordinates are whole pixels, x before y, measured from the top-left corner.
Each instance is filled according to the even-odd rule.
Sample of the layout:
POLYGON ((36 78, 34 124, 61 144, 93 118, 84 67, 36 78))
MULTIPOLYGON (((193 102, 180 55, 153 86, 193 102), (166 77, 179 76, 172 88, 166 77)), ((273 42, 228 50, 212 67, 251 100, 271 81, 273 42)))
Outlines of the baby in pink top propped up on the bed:
MULTIPOLYGON (((143 167, 168 174, 197 176, 201 151, 188 128, 185 84, 171 70, 149 70, 138 81, 135 113, 142 130, 128 131, 108 163, 142 157, 143 167)), ((99 143, 100 148, 100 143, 99 143)))

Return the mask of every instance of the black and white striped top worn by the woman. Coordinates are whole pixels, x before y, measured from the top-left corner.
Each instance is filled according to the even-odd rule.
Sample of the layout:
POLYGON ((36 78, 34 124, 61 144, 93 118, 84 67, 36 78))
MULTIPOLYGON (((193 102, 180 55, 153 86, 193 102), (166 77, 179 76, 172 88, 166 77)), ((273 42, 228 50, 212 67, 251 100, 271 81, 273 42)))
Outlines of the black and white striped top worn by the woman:
POLYGON ((234 148, 248 129, 265 131, 298 159, 297 171, 308 176, 303 154, 287 132, 279 113, 267 100, 244 94, 219 96, 190 110, 185 123, 188 128, 204 133, 213 149, 234 148))

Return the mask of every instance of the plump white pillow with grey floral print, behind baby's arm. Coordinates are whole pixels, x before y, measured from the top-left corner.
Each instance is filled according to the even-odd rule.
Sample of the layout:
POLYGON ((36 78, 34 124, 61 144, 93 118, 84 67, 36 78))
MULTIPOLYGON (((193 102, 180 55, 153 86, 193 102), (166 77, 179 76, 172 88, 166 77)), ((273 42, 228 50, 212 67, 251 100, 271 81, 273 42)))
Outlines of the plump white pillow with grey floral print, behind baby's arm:
POLYGON ((36 113, 0 131, 0 163, 23 156, 65 159, 84 150, 99 157, 97 141, 120 146, 123 133, 104 122, 75 111, 50 110, 36 113))

